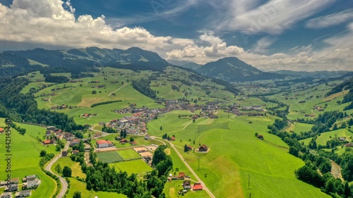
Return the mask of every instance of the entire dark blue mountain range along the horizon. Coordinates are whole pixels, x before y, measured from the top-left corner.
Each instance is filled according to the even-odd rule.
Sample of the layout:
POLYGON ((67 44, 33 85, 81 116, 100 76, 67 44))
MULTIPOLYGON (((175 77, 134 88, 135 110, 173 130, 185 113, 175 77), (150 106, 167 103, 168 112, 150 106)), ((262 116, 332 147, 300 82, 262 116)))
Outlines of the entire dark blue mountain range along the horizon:
MULTIPOLYGON (((167 66, 173 66, 157 53, 138 47, 129 49, 100 49, 88 47, 84 49, 46 50, 31 49, 25 51, 3 51, 0 53, 1 74, 16 75, 18 73, 42 70, 44 73, 71 72, 81 73, 96 70, 97 66, 111 66, 131 70, 162 71, 167 66), (9 67, 11 66, 11 67, 9 67)), ((218 61, 199 65, 186 63, 179 68, 195 70, 207 77, 225 80, 227 82, 246 82, 254 80, 285 79, 289 75, 301 77, 325 78, 340 76, 345 72, 263 72, 250 66, 236 57, 222 58, 218 61)))

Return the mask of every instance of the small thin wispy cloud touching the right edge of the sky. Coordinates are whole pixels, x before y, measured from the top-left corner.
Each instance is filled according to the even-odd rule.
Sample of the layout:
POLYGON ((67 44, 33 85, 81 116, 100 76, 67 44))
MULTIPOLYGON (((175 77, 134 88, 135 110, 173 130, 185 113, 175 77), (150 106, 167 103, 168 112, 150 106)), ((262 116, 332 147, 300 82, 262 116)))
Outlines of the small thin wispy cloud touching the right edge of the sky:
POLYGON ((306 27, 309 28, 323 28, 330 27, 333 25, 338 25, 340 23, 345 23, 346 21, 353 19, 353 9, 350 8, 346 11, 341 11, 339 13, 333 13, 328 16, 321 16, 318 18, 313 18, 306 23, 306 27))

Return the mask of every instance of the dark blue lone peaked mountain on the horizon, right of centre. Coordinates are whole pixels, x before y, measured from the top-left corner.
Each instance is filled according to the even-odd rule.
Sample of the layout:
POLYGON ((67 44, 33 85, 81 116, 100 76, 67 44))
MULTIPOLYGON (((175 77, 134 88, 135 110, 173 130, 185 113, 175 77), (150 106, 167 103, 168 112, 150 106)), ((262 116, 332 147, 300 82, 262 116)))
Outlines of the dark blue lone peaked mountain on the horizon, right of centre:
POLYGON ((206 63, 204 66, 197 68, 196 71, 210 78, 218 78, 228 82, 284 79, 287 76, 263 72, 235 57, 222 58, 215 62, 206 63))

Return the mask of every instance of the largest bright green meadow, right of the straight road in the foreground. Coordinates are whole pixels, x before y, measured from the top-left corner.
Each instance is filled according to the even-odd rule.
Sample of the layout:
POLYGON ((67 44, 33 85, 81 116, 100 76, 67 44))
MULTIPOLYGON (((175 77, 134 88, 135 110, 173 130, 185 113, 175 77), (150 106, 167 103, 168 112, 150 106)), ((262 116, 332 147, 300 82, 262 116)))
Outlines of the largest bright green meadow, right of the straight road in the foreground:
MULTIPOLYGON (((198 122, 205 122, 200 119, 184 130, 174 132, 177 149, 217 197, 249 197, 249 193, 258 197, 287 197, 288 194, 294 197, 329 197, 318 188, 295 178, 294 170, 304 166, 304 162, 288 154, 287 144, 279 137, 265 132, 275 117, 232 116, 226 119, 227 113, 222 112, 217 116, 220 119, 210 124, 215 126, 210 126, 209 130, 198 132, 198 122), (254 137, 255 132, 264 135, 265 140, 254 137), (191 142, 195 140, 196 144, 193 145, 189 139, 191 142), (193 147, 206 144, 210 151, 208 154, 184 153, 184 144, 189 143, 193 147), (249 175, 253 180, 250 189, 249 175)), ((158 118, 149 123, 148 128, 156 121, 174 123, 177 119, 177 116, 158 118)))

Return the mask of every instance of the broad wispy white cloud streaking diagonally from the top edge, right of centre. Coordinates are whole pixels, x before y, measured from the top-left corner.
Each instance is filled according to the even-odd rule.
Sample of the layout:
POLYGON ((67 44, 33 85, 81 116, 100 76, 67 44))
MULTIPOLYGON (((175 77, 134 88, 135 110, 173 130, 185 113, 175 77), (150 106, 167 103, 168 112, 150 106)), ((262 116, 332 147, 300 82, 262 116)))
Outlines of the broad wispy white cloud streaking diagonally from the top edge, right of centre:
POLYGON ((295 23, 312 16, 335 0, 270 0, 259 5, 259 1, 233 0, 229 6, 232 16, 221 28, 239 30, 246 34, 266 32, 278 35, 295 23))

